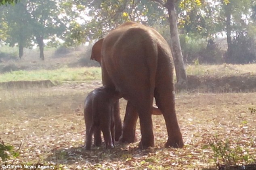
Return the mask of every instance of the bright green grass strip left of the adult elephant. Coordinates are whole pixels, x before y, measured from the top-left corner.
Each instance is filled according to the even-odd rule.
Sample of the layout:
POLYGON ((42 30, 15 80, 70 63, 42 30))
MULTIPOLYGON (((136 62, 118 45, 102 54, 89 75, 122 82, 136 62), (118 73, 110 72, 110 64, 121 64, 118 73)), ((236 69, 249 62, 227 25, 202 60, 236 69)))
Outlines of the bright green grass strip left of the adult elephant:
POLYGON ((101 68, 60 68, 57 70, 13 71, 0 74, 0 82, 9 81, 84 81, 101 80, 101 68))

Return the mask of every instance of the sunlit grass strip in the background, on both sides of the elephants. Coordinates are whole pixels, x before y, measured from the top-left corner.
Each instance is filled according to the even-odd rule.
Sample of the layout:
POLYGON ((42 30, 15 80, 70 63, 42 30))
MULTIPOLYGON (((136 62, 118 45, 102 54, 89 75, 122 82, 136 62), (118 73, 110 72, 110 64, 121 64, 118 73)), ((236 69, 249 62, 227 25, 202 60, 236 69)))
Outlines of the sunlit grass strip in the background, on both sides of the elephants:
MULTIPOLYGON (((187 74, 222 78, 256 75, 256 63, 246 65, 187 65, 187 74)), ((20 70, 0 74, 0 82, 20 80, 81 81, 101 80, 100 67, 59 68, 56 70, 20 70)))

